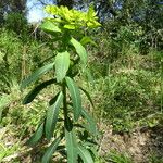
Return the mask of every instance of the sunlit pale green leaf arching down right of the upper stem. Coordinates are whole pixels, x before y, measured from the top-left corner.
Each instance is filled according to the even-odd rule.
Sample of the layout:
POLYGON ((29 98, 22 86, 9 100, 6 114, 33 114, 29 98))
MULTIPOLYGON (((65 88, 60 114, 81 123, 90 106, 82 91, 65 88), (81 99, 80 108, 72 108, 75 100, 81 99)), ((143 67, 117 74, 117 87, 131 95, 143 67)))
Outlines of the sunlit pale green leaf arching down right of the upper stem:
POLYGON ((76 49, 76 52, 78 53, 78 55, 80 57, 80 60, 84 64, 87 63, 87 52, 86 52, 86 49, 83 47, 83 45, 77 41, 76 39, 74 38, 71 38, 71 43, 74 46, 74 48, 76 49))

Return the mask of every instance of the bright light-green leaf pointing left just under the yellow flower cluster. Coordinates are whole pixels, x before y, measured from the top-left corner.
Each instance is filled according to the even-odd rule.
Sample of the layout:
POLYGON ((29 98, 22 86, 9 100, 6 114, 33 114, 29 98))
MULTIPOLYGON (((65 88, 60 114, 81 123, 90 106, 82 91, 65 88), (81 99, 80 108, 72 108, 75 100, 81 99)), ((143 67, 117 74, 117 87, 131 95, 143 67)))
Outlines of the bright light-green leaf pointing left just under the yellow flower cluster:
POLYGON ((57 33, 62 33, 62 30, 53 23, 50 21, 46 21, 40 25, 40 28, 45 32, 57 32, 57 33))

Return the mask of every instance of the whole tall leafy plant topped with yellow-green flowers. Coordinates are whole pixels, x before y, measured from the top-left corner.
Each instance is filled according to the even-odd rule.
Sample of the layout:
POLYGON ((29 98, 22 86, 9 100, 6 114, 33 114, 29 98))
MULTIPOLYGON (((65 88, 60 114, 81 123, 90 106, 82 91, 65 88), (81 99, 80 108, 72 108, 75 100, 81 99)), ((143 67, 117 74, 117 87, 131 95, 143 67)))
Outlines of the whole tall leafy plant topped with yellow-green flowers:
POLYGON ((54 76, 36 86, 25 97, 23 103, 30 103, 39 91, 49 85, 57 85, 60 89, 49 101, 45 120, 27 143, 35 146, 45 137, 51 142, 54 137, 47 148, 42 163, 49 162, 52 154, 63 147, 61 145, 65 145, 63 150, 68 163, 92 163, 93 142, 90 138, 97 135, 97 128, 95 121, 82 105, 80 91, 88 97, 91 104, 92 101, 89 93, 77 85, 75 77, 87 66, 88 57, 84 45, 92 40, 85 36, 86 30, 99 27, 100 24, 92 8, 89 8, 88 12, 82 12, 68 10, 66 7, 47 5, 46 12, 53 17, 45 18, 40 27, 50 35, 50 41, 58 42, 54 62, 33 73, 22 83, 21 88, 38 80, 49 71, 53 71, 54 76), (57 124, 60 124, 60 135, 57 134, 57 124))

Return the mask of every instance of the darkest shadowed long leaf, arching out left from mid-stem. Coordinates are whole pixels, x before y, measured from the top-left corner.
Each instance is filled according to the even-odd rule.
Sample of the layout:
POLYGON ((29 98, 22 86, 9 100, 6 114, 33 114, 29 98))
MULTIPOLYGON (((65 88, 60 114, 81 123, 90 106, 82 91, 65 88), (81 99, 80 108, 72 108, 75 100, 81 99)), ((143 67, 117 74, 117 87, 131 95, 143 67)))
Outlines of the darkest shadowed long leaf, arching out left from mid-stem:
POLYGON ((50 80, 47 80, 47 82, 43 82, 42 84, 36 86, 32 91, 29 91, 29 93, 24 98, 23 100, 23 104, 27 104, 27 103, 30 103, 35 98, 36 96, 43 89, 46 88, 47 86, 55 83, 57 80, 55 79, 50 79, 50 80))

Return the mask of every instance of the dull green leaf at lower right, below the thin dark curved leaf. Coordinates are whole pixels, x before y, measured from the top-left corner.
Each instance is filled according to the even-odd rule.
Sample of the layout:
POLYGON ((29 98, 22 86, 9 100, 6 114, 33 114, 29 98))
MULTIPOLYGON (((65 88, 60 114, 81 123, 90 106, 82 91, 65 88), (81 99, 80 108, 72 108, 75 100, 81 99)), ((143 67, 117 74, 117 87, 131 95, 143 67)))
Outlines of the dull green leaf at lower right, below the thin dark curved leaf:
POLYGON ((93 118, 88 114, 88 112, 83 109, 82 110, 82 115, 87 120, 88 125, 86 125, 85 127, 88 129, 88 131, 90 131, 93 136, 98 135, 98 130, 97 130, 97 126, 96 123, 93 121, 93 118))

